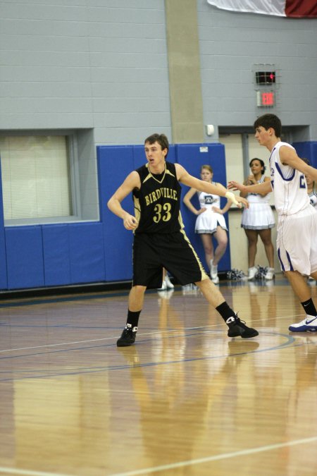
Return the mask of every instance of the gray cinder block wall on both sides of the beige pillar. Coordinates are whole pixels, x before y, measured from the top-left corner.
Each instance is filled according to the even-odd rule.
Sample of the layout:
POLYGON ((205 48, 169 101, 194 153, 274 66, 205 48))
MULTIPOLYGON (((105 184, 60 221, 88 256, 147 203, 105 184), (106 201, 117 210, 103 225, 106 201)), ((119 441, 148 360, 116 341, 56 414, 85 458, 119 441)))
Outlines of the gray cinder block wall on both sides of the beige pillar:
MULTIPOLYGON (((309 125, 302 140, 316 140, 317 20, 194 3, 204 123, 216 126, 205 140, 217 140, 218 126, 253 123, 257 63, 275 64, 282 122, 309 125)), ((85 128, 96 144, 141 143, 153 130, 170 137, 163 0, 2 1, 0 47, 2 133, 85 128)))

